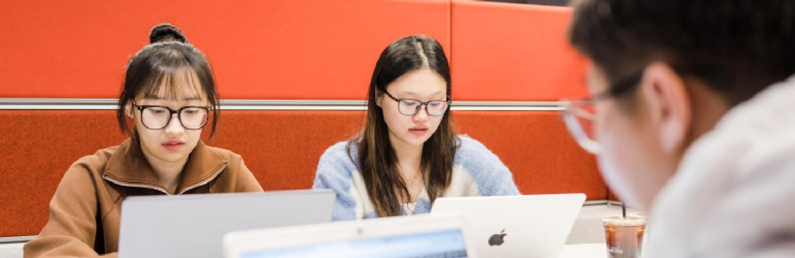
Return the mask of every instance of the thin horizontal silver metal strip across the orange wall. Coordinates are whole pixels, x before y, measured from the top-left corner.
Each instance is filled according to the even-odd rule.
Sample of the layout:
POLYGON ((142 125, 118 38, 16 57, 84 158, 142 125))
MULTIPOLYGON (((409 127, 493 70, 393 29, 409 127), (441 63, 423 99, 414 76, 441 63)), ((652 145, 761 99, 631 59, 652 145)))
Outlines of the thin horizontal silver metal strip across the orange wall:
MULTIPOLYGON (((0 98, 0 110, 116 110, 116 98, 0 98)), ((453 101, 452 110, 558 111, 560 102, 453 101)), ((366 110, 362 100, 222 99, 221 110, 366 110)))

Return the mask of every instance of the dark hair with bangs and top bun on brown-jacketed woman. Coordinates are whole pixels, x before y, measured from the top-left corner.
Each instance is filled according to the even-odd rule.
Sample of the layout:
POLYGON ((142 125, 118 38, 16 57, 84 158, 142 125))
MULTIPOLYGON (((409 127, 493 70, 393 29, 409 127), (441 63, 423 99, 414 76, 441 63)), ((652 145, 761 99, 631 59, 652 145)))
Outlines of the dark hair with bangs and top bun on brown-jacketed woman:
POLYGON ((181 83, 197 87, 192 90, 207 94, 207 102, 212 106, 211 138, 215 134, 215 125, 219 118, 219 103, 210 63, 199 49, 188 44, 188 38, 180 29, 170 24, 154 26, 149 32, 149 44, 138 51, 127 64, 116 110, 116 119, 122 133, 130 133, 125 114, 127 103, 140 94, 156 95, 161 90, 165 90, 169 96, 178 96, 180 88, 176 85, 181 83), (193 81, 194 79, 198 79, 198 82, 193 81), (161 89, 161 85, 167 88, 161 89))

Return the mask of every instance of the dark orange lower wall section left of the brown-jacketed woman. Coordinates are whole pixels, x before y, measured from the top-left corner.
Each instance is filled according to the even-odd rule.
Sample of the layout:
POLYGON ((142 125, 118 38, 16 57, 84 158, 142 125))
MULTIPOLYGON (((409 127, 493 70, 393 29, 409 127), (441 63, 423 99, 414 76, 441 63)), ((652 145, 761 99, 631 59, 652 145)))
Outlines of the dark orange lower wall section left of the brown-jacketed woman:
POLYGON ((114 110, 0 110, 0 237, 36 235, 72 163, 124 139, 114 110))

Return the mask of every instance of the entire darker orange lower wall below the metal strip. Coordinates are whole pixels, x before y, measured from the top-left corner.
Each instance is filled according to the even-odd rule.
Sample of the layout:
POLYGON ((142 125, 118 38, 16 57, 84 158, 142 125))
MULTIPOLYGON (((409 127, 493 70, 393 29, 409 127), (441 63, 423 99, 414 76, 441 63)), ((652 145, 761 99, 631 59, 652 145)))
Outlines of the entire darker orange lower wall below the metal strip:
MULTIPOLYGON (((552 111, 455 111, 460 133, 483 142, 525 194, 584 192, 606 198, 594 160, 552 111)), ((326 148, 354 135, 363 111, 225 110, 212 146, 240 154, 266 190, 312 187, 326 148)), ((114 110, 0 110, 0 237, 35 235, 64 171, 123 141, 114 110)), ((207 130, 205 130, 204 133, 207 130)))

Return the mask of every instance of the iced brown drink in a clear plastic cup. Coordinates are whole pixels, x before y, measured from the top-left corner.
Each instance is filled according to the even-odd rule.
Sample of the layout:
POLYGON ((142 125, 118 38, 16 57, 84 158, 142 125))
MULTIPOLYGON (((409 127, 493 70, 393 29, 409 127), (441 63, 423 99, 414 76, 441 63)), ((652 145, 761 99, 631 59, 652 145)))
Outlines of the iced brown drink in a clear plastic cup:
POLYGON ((639 215, 611 216, 602 218, 604 237, 607 241, 607 257, 636 258, 641 256, 643 230, 646 218, 639 215))

